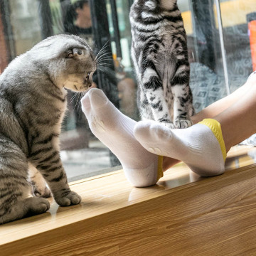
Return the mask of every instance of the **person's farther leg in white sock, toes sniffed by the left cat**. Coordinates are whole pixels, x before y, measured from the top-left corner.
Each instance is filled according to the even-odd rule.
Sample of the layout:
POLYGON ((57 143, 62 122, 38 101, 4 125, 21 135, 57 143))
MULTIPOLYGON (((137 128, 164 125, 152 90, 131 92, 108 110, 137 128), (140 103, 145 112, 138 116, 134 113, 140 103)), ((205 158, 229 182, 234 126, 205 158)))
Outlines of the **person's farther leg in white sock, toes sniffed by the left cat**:
MULTIPOLYGON (((238 101, 238 99, 240 99, 242 95, 245 95, 247 90, 249 90, 250 87, 252 87, 253 82, 254 81, 245 83, 245 85, 243 85, 238 90, 233 92, 233 94, 229 95, 228 97, 225 97, 222 100, 219 100, 218 102, 213 103, 213 105, 210 105, 202 112, 196 114, 195 116, 192 117, 193 122, 196 124, 199 121, 201 121, 201 119, 203 118, 214 117, 215 115, 220 114, 220 112, 230 107, 230 105, 232 105, 234 102, 238 101)), ((141 151, 142 146, 137 142, 134 142, 134 136, 131 131, 134 125, 136 124, 136 122, 134 122, 132 119, 124 117, 124 115, 120 113, 118 110, 116 110, 114 106, 108 107, 107 101, 103 97, 103 95, 101 95, 102 97, 100 97, 100 99, 97 101, 95 100, 96 97, 92 96, 94 93, 92 93, 92 95, 90 95, 90 93, 88 93, 87 96, 85 97, 85 99, 87 100, 85 99, 82 100, 83 102, 82 105, 84 106, 83 107, 84 112, 87 115, 88 120, 90 122, 90 127, 95 132, 96 137, 98 137, 100 140, 102 140, 103 143, 109 146, 110 149, 112 149, 112 151, 114 152, 114 154, 117 154, 117 157, 119 158, 119 160, 121 160, 121 158, 123 159, 121 162, 124 167, 124 171, 128 176, 127 178, 134 186, 150 186, 154 184, 159 178, 159 174, 156 174, 157 173, 156 169, 158 169, 159 159, 157 159, 157 162, 158 162, 157 168, 154 171, 152 171, 154 178, 151 178, 150 175, 148 174, 145 175, 143 172, 135 170, 137 168, 134 169, 134 167, 132 167, 133 164, 137 162, 137 158, 140 158, 141 156, 143 156, 141 159, 144 159, 147 161, 147 159, 151 159, 152 157, 152 154, 149 154, 149 152, 146 153, 146 151, 141 151), (96 102, 96 105, 98 105, 98 102, 104 102, 104 104, 102 103, 102 105, 95 107, 95 102, 96 102), (117 124, 117 122, 119 121, 119 118, 122 120, 122 122, 117 124), (100 134, 99 132, 99 130, 101 129, 101 126, 100 126, 101 122, 102 120, 103 122, 105 122, 105 119, 108 119, 110 122, 112 122, 112 120, 114 119, 113 124, 114 125, 117 124, 113 126, 114 129, 112 125, 110 125, 110 127, 107 127, 107 134, 110 134, 110 137, 108 139, 105 139, 106 135, 100 134), (117 127, 119 128, 118 132, 116 131, 117 127), (122 139, 123 137, 125 137, 125 139, 122 139), (125 145, 127 140, 131 143, 129 144, 129 148, 124 149, 122 145, 125 145), (120 154, 120 152, 122 152, 124 156, 122 156, 122 153, 120 154), (132 152, 132 155, 129 155, 131 152, 132 152), (147 156, 147 154, 149 155, 147 156), (129 157, 127 158, 127 156, 129 157), (126 167, 126 162, 128 163, 127 167, 126 167), (132 171, 129 171, 129 170, 132 170, 132 171), (130 174, 132 178, 130 177, 130 174), (139 178, 137 176, 139 176, 139 178)), ((142 160, 142 162, 144 162, 144 160, 142 160)), ((164 157, 164 161, 163 161, 164 171, 169 169, 171 166, 174 166, 174 164, 177 164, 178 161, 179 160, 173 159, 169 156, 164 157)), ((154 166, 156 166, 155 160, 154 160, 154 166)))

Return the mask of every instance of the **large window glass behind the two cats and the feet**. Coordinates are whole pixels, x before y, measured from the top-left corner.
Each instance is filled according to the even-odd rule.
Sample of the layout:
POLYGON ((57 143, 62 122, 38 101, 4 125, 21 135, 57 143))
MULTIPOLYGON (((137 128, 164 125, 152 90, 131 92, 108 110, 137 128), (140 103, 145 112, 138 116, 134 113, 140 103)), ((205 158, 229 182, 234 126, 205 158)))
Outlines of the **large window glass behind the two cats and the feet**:
MULTIPOLYGON (((73 33, 105 58, 94 86, 124 114, 139 119, 137 80, 130 57, 132 0, 0 1, 0 73, 16 55, 48 36, 73 33)), ((233 92, 256 69, 255 0, 178 0, 188 38, 191 90, 196 112, 233 92)), ((80 97, 68 94, 61 157, 69 180, 119 166, 117 158, 90 132, 80 97)), ((119 168, 119 167, 117 167, 119 168)))

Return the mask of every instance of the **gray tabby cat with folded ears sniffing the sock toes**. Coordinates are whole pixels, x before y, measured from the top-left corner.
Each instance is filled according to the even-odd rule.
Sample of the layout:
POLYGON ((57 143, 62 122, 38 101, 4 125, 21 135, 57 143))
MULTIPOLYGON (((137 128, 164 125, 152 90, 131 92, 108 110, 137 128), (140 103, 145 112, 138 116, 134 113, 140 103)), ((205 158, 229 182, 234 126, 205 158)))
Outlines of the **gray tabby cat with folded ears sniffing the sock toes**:
POLYGON ((59 35, 14 59, 1 74, 0 223, 45 212, 48 201, 36 196, 50 196, 50 191, 60 206, 80 203, 68 186, 58 137, 67 105, 65 88, 85 92, 95 70, 92 50, 83 39, 59 35))

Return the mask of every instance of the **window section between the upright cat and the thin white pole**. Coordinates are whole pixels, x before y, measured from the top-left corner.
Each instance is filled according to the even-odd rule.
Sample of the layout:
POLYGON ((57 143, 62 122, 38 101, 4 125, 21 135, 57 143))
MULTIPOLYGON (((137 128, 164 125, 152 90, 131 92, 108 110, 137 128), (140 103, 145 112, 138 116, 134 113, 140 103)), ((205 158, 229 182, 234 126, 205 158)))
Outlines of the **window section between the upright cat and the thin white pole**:
POLYGON ((178 1, 188 39, 190 86, 196 112, 227 95, 213 1, 178 1))

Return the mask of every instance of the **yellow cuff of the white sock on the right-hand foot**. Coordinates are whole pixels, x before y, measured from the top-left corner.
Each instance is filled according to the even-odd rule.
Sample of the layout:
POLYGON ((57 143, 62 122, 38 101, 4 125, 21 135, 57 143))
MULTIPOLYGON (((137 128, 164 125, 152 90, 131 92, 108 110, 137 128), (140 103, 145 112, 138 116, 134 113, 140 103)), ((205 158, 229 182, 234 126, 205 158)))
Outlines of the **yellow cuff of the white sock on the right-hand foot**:
POLYGON ((223 154, 223 160, 225 161, 227 157, 227 153, 225 149, 225 142, 223 139, 220 123, 215 119, 208 118, 208 119, 203 119, 203 121, 198 122, 198 124, 204 124, 211 129, 216 139, 218 139, 218 143, 220 144, 220 149, 223 154))

